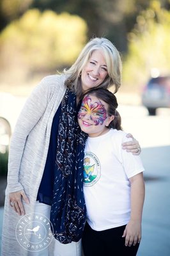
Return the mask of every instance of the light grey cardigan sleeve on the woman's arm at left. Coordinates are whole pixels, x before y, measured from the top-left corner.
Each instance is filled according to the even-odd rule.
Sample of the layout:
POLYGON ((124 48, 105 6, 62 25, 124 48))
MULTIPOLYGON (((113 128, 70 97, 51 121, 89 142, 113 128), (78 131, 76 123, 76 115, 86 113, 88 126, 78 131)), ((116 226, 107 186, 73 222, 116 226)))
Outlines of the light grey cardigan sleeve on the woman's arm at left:
POLYGON ((8 159, 8 191, 15 192, 22 190, 19 183, 19 170, 22 155, 24 152, 27 136, 42 117, 48 102, 48 89, 42 82, 36 86, 31 96, 26 100, 22 109, 15 131, 10 141, 10 152, 8 159))

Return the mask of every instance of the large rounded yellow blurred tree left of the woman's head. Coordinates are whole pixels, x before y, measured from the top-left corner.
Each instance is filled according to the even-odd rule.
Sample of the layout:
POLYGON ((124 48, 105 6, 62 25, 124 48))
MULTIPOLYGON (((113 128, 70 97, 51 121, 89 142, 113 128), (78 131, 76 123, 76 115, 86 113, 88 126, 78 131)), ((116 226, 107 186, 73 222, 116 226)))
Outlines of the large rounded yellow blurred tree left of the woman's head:
POLYGON ((1 33, 1 76, 13 70, 22 79, 70 66, 86 43, 86 31, 86 22, 78 16, 27 11, 1 33))

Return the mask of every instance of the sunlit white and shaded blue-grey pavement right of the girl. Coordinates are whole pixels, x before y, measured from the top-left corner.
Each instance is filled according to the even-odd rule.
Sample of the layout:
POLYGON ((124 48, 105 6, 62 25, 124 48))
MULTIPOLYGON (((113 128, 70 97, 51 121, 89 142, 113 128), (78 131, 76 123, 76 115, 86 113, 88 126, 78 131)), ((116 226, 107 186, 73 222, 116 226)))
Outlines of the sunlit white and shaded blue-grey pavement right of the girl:
MULTIPOLYGON (((146 116, 146 110, 121 108, 123 128, 140 141, 146 171, 143 239, 137 256, 170 255, 170 116, 146 116), (125 110, 126 109, 126 110, 125 110), (127 111, 127 113, 125 113, 127 111)), ((3 208, 0 209, 0 238, 3 208)))

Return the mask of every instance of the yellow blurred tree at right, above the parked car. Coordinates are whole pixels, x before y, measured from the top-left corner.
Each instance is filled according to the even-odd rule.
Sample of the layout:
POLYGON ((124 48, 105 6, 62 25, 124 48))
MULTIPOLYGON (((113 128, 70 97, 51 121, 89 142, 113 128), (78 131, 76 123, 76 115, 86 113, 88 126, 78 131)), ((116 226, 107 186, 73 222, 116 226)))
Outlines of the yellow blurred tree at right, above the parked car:
POLYGON ((137 16, 137 23, 128 34, 128 54, 123 65, 123 83, 127 86, 144 84, 151 69, 160 74, 170 70, 170 12, 152 1, 150 8, 137 16))

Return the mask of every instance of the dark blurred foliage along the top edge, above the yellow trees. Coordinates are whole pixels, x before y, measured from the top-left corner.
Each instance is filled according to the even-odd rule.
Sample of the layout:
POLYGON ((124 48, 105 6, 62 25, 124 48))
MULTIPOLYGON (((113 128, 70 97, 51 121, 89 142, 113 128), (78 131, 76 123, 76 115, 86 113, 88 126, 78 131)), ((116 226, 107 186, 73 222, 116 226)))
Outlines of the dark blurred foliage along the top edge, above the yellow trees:
MULTIPOLYGON (((52 10, 79 15, 88 24, 88 38, 106 36, 120 51, 127 51, 127 33, 141 10, 150 6, 151 0, 0 0, 0 31, 28 9, 52 10)), ((170 0, 159 0, 169 10, 170 0)))

